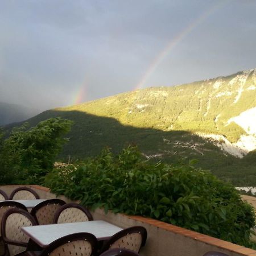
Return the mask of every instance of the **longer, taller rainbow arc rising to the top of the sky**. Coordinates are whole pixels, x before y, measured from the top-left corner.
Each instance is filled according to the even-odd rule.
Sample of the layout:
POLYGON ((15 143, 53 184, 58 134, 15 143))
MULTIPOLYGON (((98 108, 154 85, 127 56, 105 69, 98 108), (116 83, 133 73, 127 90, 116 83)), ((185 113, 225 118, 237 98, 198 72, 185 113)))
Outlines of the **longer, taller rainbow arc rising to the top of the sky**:
POLYGON ((208 10, 204 11, 203 14, 201 14, 199 17, 193 20, 191 24, 185 27, 183 31, 179 32, 179 34, 177 34, 175 38, 171 39, 171 41, 167 44, 167 46, 164 47, 164 49, 155 57, 155 59, 149 65, 146 73, 144 73, 141 80, 133 90, 138 90, 143 87, 147 79, 152 75, 152 73, 155 72, 156 68, 158 68, 160 63, 162 63, 163 59, 170 54, 172 49, 174 49, 174 47, 179 42, 181 42, 181 40, 183 40, 185 36, 187 36, 193 30, 193 28, 199 26, 199 24, 201 24, 205 19, 207 19, 215 11, 217 11, 218 9, 221 9, 221 7, 224 7, 231 1, 232 0, 221 1, 218 5, 211 6, 208 10))

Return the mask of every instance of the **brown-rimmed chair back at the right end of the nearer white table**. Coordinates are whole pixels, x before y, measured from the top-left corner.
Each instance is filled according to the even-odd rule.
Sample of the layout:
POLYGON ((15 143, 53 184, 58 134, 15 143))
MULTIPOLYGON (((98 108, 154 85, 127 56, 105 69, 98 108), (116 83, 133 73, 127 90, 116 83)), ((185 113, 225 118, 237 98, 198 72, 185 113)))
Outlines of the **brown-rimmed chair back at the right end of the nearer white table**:
POLYGON ((145 245, 147 239, 147 230, 143 226, 133 226, 123 229, 114 234, 109 241, 106 242, 102 251, 114 248, 125 248, 139 252, 145 245))

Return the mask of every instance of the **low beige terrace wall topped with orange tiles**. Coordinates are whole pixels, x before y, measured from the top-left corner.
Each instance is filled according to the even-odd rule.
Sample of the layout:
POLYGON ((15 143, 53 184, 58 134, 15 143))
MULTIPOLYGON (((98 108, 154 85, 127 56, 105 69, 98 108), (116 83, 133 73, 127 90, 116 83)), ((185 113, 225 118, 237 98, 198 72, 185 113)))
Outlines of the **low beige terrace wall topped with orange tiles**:
MULTIPOLYGON (((4 185, 0 186, 0 189, 10 195, 17 187, 19 185, 4 185)), ((46 187, 39 185, 27 185, 27 187, 34 189, 42 199, 56 198, 56 195, 46 187)), ((64 196, 57 198, 64 200, 66 203, 72 202, 64 196)), ((146 228, 148 237, 146 245, 140 251, 142 256, 200 256, 207 251, 220 251, 230 256, 256 256, 255 250, 151 218, 128 216, 120 213, 114 214, 110 211, 105 214, 103 209, 96 209, 92 212, 92 216, 94 220, 105 220, 121 228, 138 225, 146 228)))

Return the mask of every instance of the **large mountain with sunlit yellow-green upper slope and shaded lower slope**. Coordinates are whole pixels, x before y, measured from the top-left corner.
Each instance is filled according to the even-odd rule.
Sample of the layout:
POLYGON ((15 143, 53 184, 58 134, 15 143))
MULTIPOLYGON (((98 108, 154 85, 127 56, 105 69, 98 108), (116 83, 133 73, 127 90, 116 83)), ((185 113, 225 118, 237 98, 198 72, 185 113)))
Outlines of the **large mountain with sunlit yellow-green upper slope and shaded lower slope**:
POLYGON ((256 184, 256 70, 191 84, 152 87, 43 112, 74 121, 61 158, 139 146, 146 158, 197 166, 238 185, 256 184))

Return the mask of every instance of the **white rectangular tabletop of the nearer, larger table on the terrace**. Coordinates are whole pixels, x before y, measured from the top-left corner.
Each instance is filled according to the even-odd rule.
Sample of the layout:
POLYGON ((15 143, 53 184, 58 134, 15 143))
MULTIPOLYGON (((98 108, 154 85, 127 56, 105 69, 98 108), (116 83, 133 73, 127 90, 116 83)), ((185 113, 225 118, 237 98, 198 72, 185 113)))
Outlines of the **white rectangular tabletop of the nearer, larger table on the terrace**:
POLYGON ((68 234, 88 232, 94 234, 98 240, 105 240, 113 234, 122 230, 118 226, 106 221, 84 221, 63 224, 50 224, 39 226, 27 226, 22 228, 34 242, 41 247, 46 247, 49 243, 68 234))

